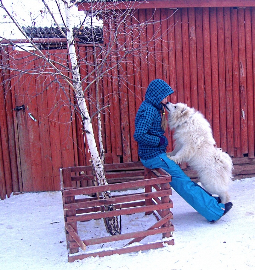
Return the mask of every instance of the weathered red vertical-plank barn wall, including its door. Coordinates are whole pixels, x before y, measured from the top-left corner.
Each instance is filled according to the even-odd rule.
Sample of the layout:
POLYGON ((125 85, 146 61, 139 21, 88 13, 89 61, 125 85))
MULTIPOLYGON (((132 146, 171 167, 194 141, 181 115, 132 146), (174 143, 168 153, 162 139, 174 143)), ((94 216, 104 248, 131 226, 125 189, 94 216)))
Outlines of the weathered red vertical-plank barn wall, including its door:
MULTIPOLYGON (((97 85, 91 76, 96 72, 94 49, 99 62, 109 54, 100 68, 110 69, 98 84, 105 163, 139 161, 133 139, 136 111, 149 82, 160 78, 174 89, 171 102, 185 102, 206 116, 218 147, 237 158, 236 163, 249 158, 251 168, 246 171, 238 165, 243 168, 238 177, 253 175, 255 7, 142 8, 130 14, 125 23, 120 23, 119 11, 111 19, 105 17, 105 46, 77 46, 82 83, 89 85, 85 95, 91 115, 97 111, 97 85)), ((65 49, 45 53, 69 74, 65 49)), ((7 47, 1 49, 1 61, 11 68, 1 73, 1 199, 11 192, 59 190, 60 167, 90 165, 72 90, 59 75, 49 74, 51 68, 36 56, 7 47), (43 73, 20 73, 17 68, 43 73), (25 110, 13 111, 23 104, 25 110)), ((92 124, 97 135, 96 116, 92 124)), ((171 151, 169 130, 166 136, 171 151)))

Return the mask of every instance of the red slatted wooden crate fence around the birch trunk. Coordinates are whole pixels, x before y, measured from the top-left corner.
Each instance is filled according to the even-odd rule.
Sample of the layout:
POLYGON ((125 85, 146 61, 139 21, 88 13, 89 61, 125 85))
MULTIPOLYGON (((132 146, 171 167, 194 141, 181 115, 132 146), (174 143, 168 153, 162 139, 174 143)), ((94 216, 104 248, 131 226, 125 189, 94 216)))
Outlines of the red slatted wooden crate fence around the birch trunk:
POLYGON ((139 250, 148 250, 163 247, 165 244, 173 245, 172 237, 174 226, 171 223, 173 215, 170 208, 173 202, 169 198, 171 195, 171 176, 162 169, 149 170, 142 166, 141 162, 106 164, 105 165, 107 181, 113 184, 94 186, 94 187, 77 187, 93 178, 91 166, 68 167, 60 169, 60 178, 62 183, 62 198, 66 228, 66 241, 68 252, 68 261, 73 262, 77 259, 84 259, 89 256, 107 256, 112 254, 124 254, 139 250), (81 173, 82 172, 82 173, 81 173), (115 183, 114 182, 121 182, 115 183), (142 193, 129 193, 124 195, 112 196, 109 199, 103 199, 86 196, 86 198, 77 198, 79 195, 91 195, 92 193, 101 193, 111 190, 135 190, 138 187, 144 187, 142 193), (114 205, 116 210, 101 211, 105 205, 114 205), (106 237, 88 238, 82 240, 78 235, 77 222, 100 219, 111 216, 121 216, 145 212, 146 215, 154 214, 157 222, 143 231, 123 233, 120 235, 110 235, 106 237), (166 238, 154 243, 139 244, 129 246, 134 242, 140 242, 146 236, 161 234, 166 238), (102 250, 95 252, 85 252, 86 246, 103 244, 107 242, 117 242, 132 239, 124 247, 102 250), (79 248, 84 250, 82 254, 79 248))

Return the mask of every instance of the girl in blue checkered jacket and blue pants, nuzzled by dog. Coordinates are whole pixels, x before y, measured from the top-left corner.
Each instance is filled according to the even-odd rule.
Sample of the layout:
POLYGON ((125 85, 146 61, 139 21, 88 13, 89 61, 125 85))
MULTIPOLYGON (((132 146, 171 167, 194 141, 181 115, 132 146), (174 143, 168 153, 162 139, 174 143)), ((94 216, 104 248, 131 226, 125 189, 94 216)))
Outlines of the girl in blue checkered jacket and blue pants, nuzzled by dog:
POLYGON ((145 167, 162 168, 168 172, 172 176, 171 187, 210 223, 214 223, 226 214, 233 204, 220 203, 219 197, 213 197, 192 182, 166 155, 168 141, 164 136, 167 127, 164 105, 167 103, 167 97, 173 92, 161 79, 155 79, 149 84, 145 101, 142 102, 135 119, 134 139, 138 142, 138 154, 145 167))

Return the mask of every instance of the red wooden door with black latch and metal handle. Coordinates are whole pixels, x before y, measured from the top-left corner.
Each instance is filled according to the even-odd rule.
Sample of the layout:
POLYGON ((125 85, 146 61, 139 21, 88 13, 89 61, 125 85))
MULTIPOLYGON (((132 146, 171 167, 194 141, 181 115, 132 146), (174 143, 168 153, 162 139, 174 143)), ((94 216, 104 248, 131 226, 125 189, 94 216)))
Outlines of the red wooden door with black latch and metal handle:
POLYGON ((52 78, 32 74, 43 65, 26 52, 13 55, 12 97, 20 191, 60 190, 59 168, 75 166, 70 101, 52 78), (24 70, 20 73, 17 70, 24 70))

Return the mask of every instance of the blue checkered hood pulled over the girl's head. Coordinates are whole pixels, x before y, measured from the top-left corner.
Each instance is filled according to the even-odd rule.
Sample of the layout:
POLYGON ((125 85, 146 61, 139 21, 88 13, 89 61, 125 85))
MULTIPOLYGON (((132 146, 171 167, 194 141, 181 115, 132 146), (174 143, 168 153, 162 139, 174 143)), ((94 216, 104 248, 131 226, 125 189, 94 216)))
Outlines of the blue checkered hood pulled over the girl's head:
POLYGON ((145 101, 151 103, 157 109, 162 110, 162 104, 160 102, 173 92, 174 90, 165 81, 155 79, 150 82, 146 90, 145 101))

